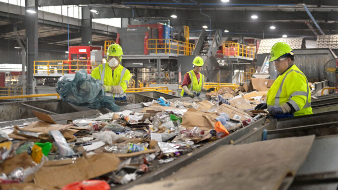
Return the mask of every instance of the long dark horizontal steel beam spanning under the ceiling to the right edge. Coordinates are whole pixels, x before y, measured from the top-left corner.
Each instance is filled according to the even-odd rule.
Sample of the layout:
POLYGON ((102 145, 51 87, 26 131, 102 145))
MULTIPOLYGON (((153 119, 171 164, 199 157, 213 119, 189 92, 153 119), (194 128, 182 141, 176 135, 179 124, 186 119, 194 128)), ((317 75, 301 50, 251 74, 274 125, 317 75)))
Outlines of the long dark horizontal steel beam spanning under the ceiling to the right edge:
MULTIPOLYGON (((124 9, 124 8, 114 8, 114 7, 98 7, 95 8, 98 11, 98 14, 94 14, 93 18, 132 18, 133 10, 135 13, 135 18, 156 18, 156 16, 160 15, 159 18, 168 18, 173 20, 189 20, 192 21, 209 21, 209 18, 200 14, 199 10, 176 10, 177 19, 172 19, 170 16, 174 13, 171 9, 124 9), (155 17, 154 17, 155 16, 155 17)), ((283 12, 283 11, 215 11, 215 10, 203 10, 203 13, 206 15, 210 15, 212 21, 224 21, 226 20, 228 23, 259 23, 263 21, 295 21, 309 20, 308 15, 305 11, 297 11, 297 12, 283 12), (217 14, 215 14, 217 12, 217 14), (257 15, 259 18, 256 20, 251 19, 251 15, 257 15)), ((338 18, 338 12, 314 12, 313 17, 316 18, 317 21, 336 21, 338 18)), ((158 17, 157 17, 158 18, 158 17)))

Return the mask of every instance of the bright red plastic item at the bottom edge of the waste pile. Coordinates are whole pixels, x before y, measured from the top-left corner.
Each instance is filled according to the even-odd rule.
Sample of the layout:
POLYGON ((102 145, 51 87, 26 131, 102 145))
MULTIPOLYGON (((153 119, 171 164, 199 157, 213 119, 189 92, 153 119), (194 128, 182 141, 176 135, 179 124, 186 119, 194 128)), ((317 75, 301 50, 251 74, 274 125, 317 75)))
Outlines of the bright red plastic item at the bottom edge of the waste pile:
POLYGON ((83 180, 77 181, 62 187, 62 190, 108 190, 110 185, 103 180, 83 180))

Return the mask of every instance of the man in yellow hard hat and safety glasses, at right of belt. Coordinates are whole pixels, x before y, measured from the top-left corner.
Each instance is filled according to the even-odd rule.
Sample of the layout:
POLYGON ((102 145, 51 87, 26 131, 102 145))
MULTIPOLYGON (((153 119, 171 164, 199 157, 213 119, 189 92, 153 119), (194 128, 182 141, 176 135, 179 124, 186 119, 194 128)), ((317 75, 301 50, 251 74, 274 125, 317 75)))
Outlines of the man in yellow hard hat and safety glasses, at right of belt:
POLYGON ((276 118, 312 114, 310 87, 304 73, 293 63, 290 46, 277 42, 271 48, 269 62, 280 73, 267 93, 267 103, 257 105, 256 110, 268 108, 276 118))

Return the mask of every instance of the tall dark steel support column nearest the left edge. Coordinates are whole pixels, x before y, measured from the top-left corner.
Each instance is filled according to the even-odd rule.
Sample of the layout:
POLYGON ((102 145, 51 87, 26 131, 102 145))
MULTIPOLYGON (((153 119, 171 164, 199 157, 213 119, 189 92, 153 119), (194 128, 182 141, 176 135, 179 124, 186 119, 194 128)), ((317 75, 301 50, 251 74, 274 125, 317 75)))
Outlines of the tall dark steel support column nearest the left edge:
POLYGON ((38 7, 35 2, 35 0, 26 0, 25 8, 28 94, 33 94, 35 91, 32 85, 33 69, 34 60, 38 59, 38 7), (30 13, 27 10, 30 10, 30 13))

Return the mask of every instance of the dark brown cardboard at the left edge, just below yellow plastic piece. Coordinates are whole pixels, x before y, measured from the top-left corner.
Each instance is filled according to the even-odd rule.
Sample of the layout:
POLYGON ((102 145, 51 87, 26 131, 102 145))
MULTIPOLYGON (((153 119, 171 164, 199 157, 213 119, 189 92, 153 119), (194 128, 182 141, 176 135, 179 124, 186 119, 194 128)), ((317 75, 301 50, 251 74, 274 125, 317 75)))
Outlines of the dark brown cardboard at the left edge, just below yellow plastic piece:
POLYGON ((18 167, 23 167, 26 169, 35 165, 36 164, 31 156, 27 152, 24 152, 12 158, 8 158, 3 163, 1 163, 0 172, 8 175, 18 167))

